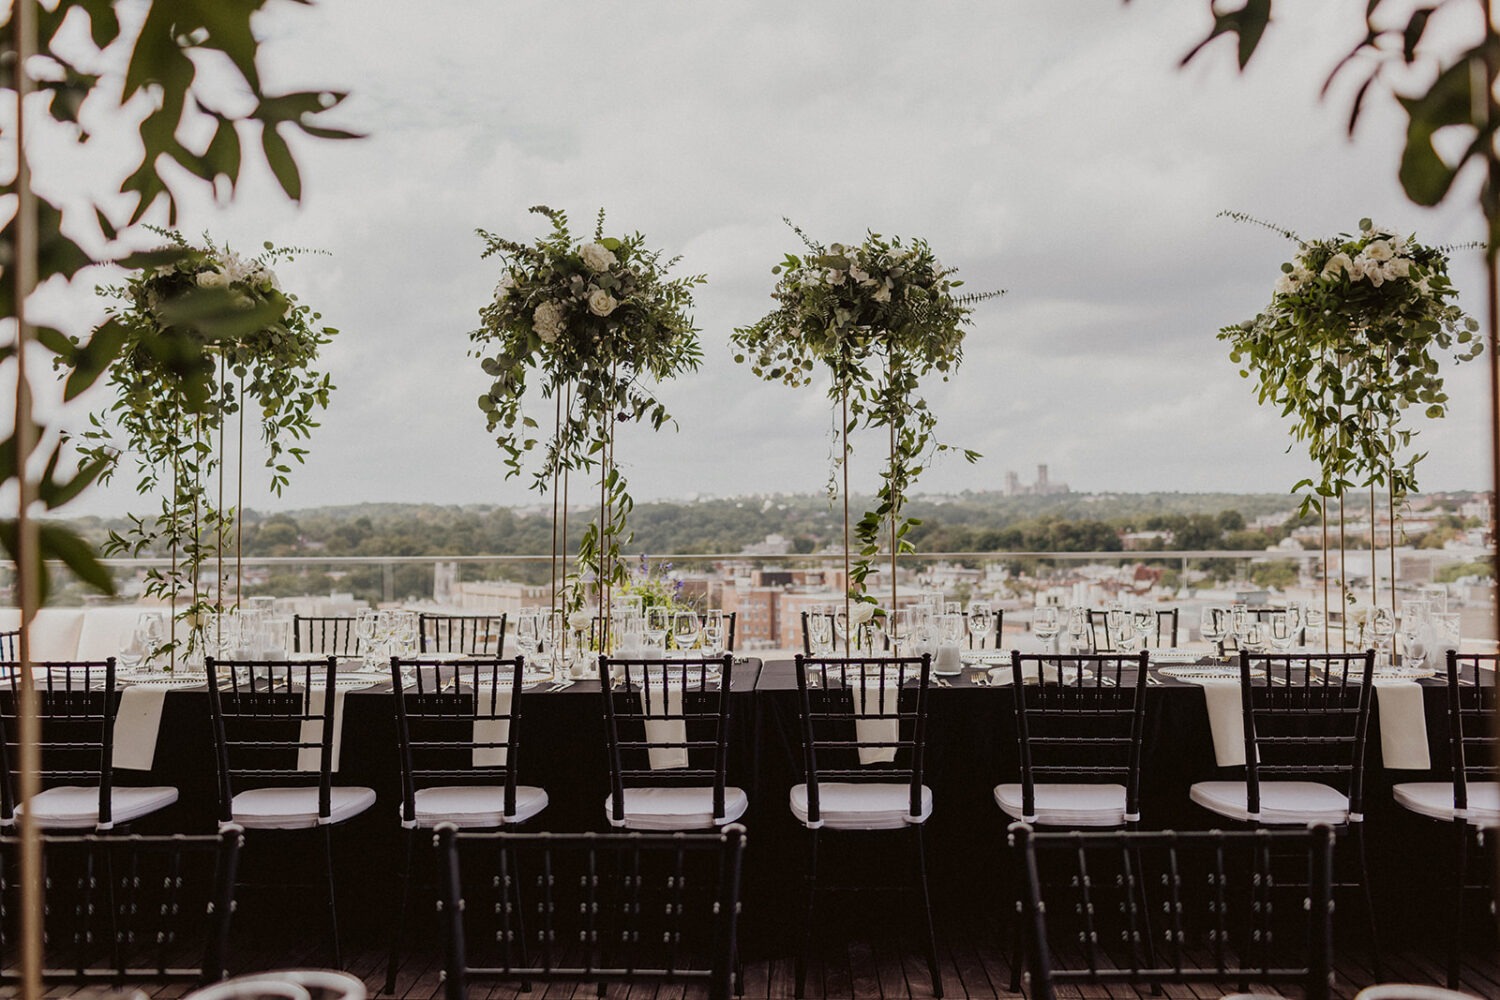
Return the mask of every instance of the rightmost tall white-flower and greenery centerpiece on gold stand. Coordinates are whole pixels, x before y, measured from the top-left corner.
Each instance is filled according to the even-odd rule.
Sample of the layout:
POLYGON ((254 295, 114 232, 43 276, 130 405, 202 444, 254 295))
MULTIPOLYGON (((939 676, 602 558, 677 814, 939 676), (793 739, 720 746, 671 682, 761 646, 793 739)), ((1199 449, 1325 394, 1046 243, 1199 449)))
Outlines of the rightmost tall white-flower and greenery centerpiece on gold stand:
POLYGON ((1479 324, 1454 301, 1458 289, 1448 274, 1448 249, 1424 246, 1370 219, 1360 219, 1353 235, 1304 240, 1239 213, 1221 214, 1257 222, 1298 244, 1296 256, 1281 265, 1270 304, 1218 336, 1228 342, 1240 376, 1256 378, 1258 400, 1292 418, 1293 441, 1304 442, 1312 459, 1314 475, 1292 490, 1302 493, 1302 514, 1317 513, 1323 522, 1324 616, 1332 576, 1328 502, 1338 507, 1341 604, 1353 604, 1344 501, 1365 489, 1370 604, 1378 604, 1376 510, 1377 489, 1383 489, 1394 615, 1396 511, 1416 489, 1424 457, 1412 448, 1416 430, 1407 414, 1420 408, 1428 418, 1443 417, 1443 357, 1470 361, 1484 349, 1479 324))

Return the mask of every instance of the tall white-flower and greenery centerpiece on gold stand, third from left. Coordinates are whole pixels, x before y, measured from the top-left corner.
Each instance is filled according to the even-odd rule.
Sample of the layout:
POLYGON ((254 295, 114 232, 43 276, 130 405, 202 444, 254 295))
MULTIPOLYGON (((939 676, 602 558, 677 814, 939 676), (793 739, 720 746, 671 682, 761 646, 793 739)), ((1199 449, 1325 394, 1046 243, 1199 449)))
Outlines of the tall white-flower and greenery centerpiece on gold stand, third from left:
MULTIPOLYGON (((788 222, 788 225, 792 225, 788 222)), ((824 246, 795 225, 806 252, 788 253, 777 274, 776 309, 734 333, 735 360, 764 379, 792 387, 812 384, 814 372, 831 375, 837 441, 830 492, 844 498, 844 577, 848 598, 873 603, 864 580, 890 540, 891 607, 896 607, 896 561, 912 552, 904 516, 908 493, 922 466, 939 451, 954 450, 936 438, 938 417, 921 397, 921 379, 946 378, 963 360, 963 328, 974 306, 1004 292, 958 294, 962 280, 944 267, 926 240, 870 232, 864 243, 824 246), (849 432, 884 427, 888 459, 878 502, 854 525, 860 546, 850 565, 849 432)), ((974 462, 978 453, 963 450, 974 462)))

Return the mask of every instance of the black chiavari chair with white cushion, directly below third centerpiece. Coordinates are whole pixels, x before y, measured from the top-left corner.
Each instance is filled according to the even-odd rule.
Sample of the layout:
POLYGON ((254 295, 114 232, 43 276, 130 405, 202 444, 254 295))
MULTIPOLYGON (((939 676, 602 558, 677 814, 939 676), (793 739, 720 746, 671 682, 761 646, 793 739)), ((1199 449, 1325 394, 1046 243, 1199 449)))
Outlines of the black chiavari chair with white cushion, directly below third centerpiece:
MULTIPOLYGON (((922 784, 932 657, 796 657, 804 783, 792 814, 808 832, 807 921, 796 996, 807 982, 818 907, 818 853, 825 832, 909 831, 926 930, 927 970, 942 997, 922 829, 933 793, 922 784)), ((826 891, 830 886, 824 886, 826 891)))

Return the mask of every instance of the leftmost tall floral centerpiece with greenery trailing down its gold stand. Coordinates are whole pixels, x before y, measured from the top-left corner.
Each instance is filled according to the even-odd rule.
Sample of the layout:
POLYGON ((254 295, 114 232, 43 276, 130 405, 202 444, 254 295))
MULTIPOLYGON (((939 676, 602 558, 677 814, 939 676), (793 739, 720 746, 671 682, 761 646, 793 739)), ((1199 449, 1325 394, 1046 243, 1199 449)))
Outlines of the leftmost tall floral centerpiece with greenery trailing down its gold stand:
MULTIPOLYGON (((92 414, 78 444, 86 460, 104 463, 102 478, 134 456, 136 492, 160 496, 160 510, 130 516, 128 529, 110 534, 104 553, 165 549, 171 556, 166 570, 147 573, 146 592, 170 603, 166 649, 176 664, 178 652, 201 652, 210 612, 240 603, 246 412, 279 496, 291 463, 308 456, 303 442, 318 426, 316 411, 328 405, 333 382, 316 363, 338 330, 285 292, 273 270, 306 250, 266 243, 261 253, 242 256, 208 238, 194 246, 178 232, 162 234, 168 246, 146 255, 147 264, 123 285, 104 291, 111 316, 96 339, 122 340, 108 367, 114 400, 92 414), (183 357, 201 360, 184 370, 183 357), (232 600, 225 570, 231 535, 232 600), (204 579, 210 561, 212 586, 204 579)), ((69 390, 74 379, 90 381, 88 348, 66 357, 74 369, 69 390)))

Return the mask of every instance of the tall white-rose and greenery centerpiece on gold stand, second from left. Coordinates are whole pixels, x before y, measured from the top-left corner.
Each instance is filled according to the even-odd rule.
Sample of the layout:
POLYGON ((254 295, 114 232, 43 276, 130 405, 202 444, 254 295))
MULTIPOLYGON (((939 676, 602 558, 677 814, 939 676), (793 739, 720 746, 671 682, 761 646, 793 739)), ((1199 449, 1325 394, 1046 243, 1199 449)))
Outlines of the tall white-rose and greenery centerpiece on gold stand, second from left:
POLYGON ((576 612, 586 594, 580 570, 594 570, 606 619, 614 588, 626 583, 620 544, 628 540, 633 505, 615 462, 615 424, 670 420, 652 384, 696 370, 704 357, 688 313, 702 274, 669 279, 680 258, 663 259, 645 237, 606 235, 600 210, 594 235, 576 240, 567 216, 546 205, 531 211, 552 223, 536 243, 478 231, 483 256, 498 256, 495 297, 480 310, 471 354, 494 382, 478 397, 486 424, 504 453, 506 475, 519 475, 540 450, 531 487, 552 492, 552 604, 576 612), (528 412, 528 403, 549 400, 528 412), (548 414, 546 411, 552 412, 548 414), (542 430, 550 423, 550 433, 542 430), (568 472, 596 474, 598 517, 578 543, 578 568, 567 568, 568 472), (560 601, 560 583, 566 591, 560 601))

